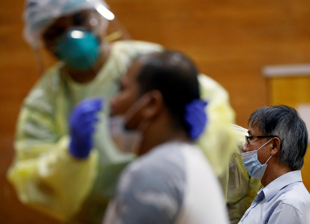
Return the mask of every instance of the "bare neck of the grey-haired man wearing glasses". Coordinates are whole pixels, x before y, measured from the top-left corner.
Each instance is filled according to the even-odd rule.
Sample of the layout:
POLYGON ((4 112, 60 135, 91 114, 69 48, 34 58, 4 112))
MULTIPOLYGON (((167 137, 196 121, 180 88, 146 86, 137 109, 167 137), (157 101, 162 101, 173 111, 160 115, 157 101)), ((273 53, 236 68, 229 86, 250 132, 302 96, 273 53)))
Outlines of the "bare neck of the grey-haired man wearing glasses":
POLYGON ((269 183, 281 177, 282 175, 293 171, 291 168, 281 165, 279 163, 271 163, 267 166, 267 169, 261 179, 261 183, 266 187, 269 183))

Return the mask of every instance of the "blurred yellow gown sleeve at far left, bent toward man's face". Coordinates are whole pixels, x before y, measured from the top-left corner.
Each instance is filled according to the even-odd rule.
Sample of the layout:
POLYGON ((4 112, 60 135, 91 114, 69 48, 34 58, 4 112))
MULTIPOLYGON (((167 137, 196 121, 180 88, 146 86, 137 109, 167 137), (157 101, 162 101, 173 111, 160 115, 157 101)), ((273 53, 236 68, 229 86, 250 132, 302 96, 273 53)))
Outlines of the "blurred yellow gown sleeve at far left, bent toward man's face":
POLYGON ((83 160, 68 153, 66 121, 55 114, 51 85, 46 85, 53 77, 42 77, 24 101, 7 178, 21 202, 65 221, 91 191, 98 152, 92 149, 83 160))

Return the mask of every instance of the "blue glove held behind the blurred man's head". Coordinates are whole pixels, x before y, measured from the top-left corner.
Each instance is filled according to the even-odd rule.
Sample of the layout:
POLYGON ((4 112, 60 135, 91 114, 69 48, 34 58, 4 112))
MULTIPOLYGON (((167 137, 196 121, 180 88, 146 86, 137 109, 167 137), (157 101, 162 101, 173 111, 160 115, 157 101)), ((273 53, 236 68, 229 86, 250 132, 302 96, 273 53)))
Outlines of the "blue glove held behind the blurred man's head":
POLYGON ((207 116, 205 112, 206 102, 194 99, 185 105, 184 120, 189 127, 189 136, 196 140, 205 128, 207 116))

